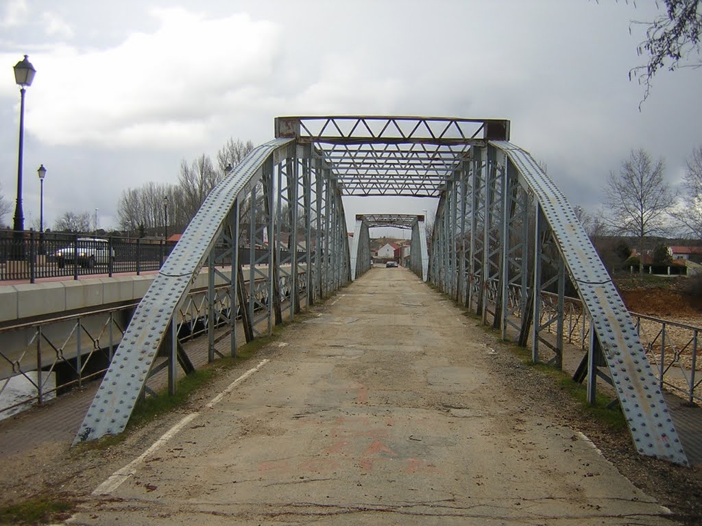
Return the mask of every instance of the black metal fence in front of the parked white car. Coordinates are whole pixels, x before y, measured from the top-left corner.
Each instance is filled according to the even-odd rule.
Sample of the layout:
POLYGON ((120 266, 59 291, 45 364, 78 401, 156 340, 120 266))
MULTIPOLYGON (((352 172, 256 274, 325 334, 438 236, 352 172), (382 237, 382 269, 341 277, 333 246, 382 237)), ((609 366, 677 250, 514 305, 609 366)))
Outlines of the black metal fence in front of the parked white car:
POLYGON ((164 239, 0 231, 0 281, 140 274, 160 269, 174 245, 164 239))

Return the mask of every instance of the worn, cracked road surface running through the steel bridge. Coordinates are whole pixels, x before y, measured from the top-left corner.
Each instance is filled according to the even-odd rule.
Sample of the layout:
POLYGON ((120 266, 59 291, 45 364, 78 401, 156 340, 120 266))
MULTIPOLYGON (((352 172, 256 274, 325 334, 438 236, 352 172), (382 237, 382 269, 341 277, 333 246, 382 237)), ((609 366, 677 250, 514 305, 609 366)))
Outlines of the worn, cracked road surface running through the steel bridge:
POLYGON ((105 473, 108 497, 78 522, 667 524, 520 396, 476 323, 409 271, 373 269, 284 330, 225 396, 194 403, 133 476, 105 473))

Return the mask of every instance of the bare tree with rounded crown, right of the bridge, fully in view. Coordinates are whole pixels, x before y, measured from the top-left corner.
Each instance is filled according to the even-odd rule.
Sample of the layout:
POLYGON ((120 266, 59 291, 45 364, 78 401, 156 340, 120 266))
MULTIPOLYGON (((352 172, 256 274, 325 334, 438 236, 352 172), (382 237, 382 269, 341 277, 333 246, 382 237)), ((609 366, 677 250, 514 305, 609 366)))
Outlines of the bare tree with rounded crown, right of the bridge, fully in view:
MULTIPOLYGON (((609 210, 607 224, 617 234, 637 238, 640 259, 648 236, 667 233, 665 218, 677 201, 664 171, 663 159, 654 163, 644 149, 632 150, 619 173, 609 173, 604 188, 609 210)), ((639 271, 643 271, 642 263, 639 271)))

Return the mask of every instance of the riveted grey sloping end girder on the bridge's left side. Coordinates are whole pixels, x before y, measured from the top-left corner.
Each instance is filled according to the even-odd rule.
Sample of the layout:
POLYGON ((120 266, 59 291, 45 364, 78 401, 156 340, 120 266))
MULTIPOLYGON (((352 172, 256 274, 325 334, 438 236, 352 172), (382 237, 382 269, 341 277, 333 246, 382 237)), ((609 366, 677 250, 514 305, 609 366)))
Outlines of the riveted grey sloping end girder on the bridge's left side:
POLYGON ((237 196, 260 180, 265 163, 294 156, 293 147, 293 139, 281 138, 253 149, 207 196, 139 303, 74 443, 124 431, 168 326, 206 262, 237 196))

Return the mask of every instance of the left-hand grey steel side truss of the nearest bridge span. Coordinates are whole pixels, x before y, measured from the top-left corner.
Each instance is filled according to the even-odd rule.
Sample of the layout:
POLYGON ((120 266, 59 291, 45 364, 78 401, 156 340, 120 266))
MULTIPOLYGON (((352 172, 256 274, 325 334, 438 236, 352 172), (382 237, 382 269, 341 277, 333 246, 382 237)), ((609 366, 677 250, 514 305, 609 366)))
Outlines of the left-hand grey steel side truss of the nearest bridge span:
POLYGON ((249 342, 270 335, 272 326, 282 322, 284 304, 292 318, 302 306, 347 283, 350 262, 340 197, 329 167, 309 146, 282 138, 251 151, 209 194, 154 278, 74 443, 124 430, 157 356, 168 357, 168 390, 175 393, 176 368, 192 366, 178 345, 173 319, 204 265, 210 278, 203 316, 210 359, 216 354, 216 318, 226 318, 235 356, 237 315, 249 342), (217 251, 220 260, 214 257, 216 245, 228 248, 217 251), (226 308, 217 297, 223 281, 229 288, 226 308))

